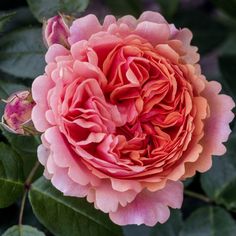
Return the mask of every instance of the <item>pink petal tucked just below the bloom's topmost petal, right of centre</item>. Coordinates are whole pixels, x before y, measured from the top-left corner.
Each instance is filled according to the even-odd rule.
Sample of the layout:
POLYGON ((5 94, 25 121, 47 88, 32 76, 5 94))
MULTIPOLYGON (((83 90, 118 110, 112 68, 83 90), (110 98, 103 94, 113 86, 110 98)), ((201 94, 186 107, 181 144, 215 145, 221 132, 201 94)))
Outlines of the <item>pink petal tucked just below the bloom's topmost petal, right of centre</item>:
POLYGON ((153 45, 165 43, 170 36, 170 29, 167 24, 158 24, 148 21, 139 23, 134 32, 147 39, 153 45))

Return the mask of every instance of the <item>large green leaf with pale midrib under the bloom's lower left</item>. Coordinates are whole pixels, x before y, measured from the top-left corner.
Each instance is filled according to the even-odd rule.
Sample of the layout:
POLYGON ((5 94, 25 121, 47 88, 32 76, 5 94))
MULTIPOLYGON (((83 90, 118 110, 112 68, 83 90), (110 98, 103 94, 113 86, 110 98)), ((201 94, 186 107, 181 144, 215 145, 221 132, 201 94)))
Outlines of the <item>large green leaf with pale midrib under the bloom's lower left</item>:
POLYGON ((36 217, 56 236, 122 235, 106 214, 85 199, 63 196, 43 177, 32 185, 29 198, 36 217))

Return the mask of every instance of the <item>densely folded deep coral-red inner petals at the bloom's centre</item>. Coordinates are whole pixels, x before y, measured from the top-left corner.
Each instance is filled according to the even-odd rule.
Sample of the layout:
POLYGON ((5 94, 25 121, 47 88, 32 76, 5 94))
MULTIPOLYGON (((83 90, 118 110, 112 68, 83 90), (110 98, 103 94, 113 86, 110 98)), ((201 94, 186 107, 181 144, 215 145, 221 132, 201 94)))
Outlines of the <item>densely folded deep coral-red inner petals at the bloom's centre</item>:
POLYGON ((80 62, 68 56, 67 72, 58 68, 78 75, 54 88, 63 91, 57 113, 71 152, 108 176, 164 179, 194 135, 197 97, 188 71, 139 37, 109 51, 83 51, 82 43, 74 52, 80 62))

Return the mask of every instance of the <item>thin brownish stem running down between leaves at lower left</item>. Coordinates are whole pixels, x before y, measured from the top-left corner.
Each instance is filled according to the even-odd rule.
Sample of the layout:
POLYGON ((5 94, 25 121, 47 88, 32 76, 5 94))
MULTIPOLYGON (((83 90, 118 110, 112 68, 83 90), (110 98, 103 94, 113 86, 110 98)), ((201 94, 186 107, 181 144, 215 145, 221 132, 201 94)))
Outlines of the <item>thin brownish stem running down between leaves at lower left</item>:
POLYGON ((20 215, 19 215, 19 226, 22 225, 22 220, 23 220, 23 214, 24 214, 24 209, 25 209, 25 202, 26 202, 26 198, 30 189, 30 185, 31 185, 31 181, 35 175, 35 172, 37 171, 38 167, 39 167, 40 163, 39 161, 35 162, 34 167, 32 168, 32 170, 30 171, 25 183, 24 183, 24 187, 25 187, 25 191, 24 191, 24 195, 22 197, 22 201, 21 201, 21 207, 20 207, 20 215))

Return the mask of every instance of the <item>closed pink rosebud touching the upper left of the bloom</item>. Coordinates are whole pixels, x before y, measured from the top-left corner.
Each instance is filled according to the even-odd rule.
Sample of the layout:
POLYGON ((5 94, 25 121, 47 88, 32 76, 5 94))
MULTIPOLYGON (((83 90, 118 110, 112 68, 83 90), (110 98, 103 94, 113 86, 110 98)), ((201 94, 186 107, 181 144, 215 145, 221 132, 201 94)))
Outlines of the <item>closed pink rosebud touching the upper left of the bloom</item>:
POLYGON ((68 48, 69 27, 72 21, 72 17, 63 14, 45 21, 43 24, 43 40, 46 47, 58 43, 68 48))

